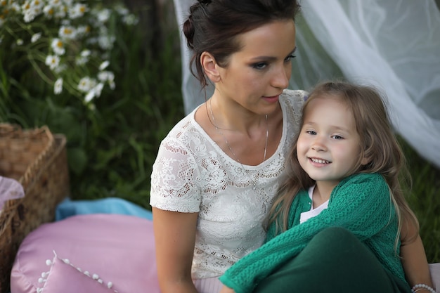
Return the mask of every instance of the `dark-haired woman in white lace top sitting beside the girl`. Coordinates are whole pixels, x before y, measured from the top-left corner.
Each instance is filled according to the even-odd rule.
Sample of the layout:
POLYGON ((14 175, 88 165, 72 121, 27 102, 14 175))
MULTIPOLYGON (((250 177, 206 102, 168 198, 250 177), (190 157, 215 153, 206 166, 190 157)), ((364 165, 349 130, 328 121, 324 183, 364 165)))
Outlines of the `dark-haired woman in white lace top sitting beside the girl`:
POLYGON ((213 95, 176 124, 153 166, 162 292, 216 293, 219 276, 257 249, 299 130, 304 91, 287 91, 297 1, 214 0, 183 25, 193 72, 213 95))

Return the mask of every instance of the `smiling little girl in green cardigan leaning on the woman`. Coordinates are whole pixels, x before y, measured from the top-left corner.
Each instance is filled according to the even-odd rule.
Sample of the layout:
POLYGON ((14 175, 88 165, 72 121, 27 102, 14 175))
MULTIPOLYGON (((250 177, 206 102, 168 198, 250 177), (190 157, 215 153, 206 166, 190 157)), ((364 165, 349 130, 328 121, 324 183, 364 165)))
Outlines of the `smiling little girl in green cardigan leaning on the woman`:
POLYGON ((301 125, 266 244, 221 282, 237 293, 434 293, 431 280, 411 289, 399 258, 402 223, 418 227, 418 220, 401 191, 404 157, 377 91, 321 84, 304 103, 301 125))

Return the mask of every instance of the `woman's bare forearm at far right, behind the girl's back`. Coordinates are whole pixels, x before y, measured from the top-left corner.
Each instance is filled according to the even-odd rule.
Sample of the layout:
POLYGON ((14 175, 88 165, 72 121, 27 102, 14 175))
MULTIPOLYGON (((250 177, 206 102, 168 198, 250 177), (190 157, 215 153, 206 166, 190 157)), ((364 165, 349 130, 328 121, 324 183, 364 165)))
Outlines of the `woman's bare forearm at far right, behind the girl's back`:
POLYGON ((425 248, 416 227, 411 221, 403 220, 400 252, 403 270, 410 286, 426 284, 432 287, 425 248), (417 237, 414 237, 415 235, 417 237))

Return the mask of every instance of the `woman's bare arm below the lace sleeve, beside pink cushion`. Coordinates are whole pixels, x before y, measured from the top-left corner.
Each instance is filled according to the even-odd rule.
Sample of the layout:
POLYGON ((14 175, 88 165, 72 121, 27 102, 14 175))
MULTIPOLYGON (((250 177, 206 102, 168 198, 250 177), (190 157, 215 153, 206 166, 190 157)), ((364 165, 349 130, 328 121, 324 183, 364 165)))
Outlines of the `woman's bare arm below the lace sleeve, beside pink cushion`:
POLYGON ((198 213, 153 207, 157 275, 162 293, 197 293, 191 279, 198 213))

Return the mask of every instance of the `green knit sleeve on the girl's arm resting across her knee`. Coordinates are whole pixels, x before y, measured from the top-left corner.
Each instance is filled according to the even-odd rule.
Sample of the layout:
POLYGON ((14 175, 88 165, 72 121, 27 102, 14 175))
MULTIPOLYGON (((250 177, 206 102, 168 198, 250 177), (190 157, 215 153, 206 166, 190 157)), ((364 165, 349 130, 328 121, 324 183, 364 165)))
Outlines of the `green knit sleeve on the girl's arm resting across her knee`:
POLYGON ((321 230, 344 227, 365 240, 387 226, 393 215, 389 188, 382 176, 351 176, 333 190, 328 208, 321 214, 266 242, 235 263, 220 280, 236 293, 252 292, 278 266, 297 256, 321 230))

